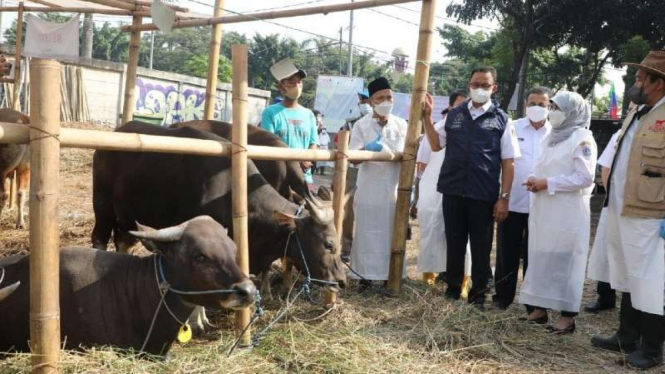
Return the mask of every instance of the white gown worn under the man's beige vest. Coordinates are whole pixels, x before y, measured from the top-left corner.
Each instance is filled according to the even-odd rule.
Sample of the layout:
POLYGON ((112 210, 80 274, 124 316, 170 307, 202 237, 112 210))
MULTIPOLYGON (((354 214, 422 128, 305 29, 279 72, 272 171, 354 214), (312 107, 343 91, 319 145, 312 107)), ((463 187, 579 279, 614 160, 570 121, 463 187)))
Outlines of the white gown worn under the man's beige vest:
MULTIPOLYGON (((654 108, 665 105, 661 99, 654 108)), ((663 315, 665 305, 665 241, 659 235, 661 219, 621 215, 628 158, 638 123, 626 131, 612 165, 605 245, 610 284, 630 292, 633 308, 663 315)))

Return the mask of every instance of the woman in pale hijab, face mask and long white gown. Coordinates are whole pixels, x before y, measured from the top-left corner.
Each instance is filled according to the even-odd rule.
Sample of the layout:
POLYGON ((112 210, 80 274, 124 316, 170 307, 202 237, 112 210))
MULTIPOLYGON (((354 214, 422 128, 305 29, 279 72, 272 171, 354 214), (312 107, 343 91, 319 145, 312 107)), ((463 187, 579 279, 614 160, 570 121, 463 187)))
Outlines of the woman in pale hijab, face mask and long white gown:
POLYGON ((550 101, 552 132, 543 140, 535 175, 525 183, 534 196, 529 268, 519 302, 534 307, 527 317, 530 322, 546 324, 547 309, 561 311, 548 329, 565 334, 575 331, 582 302, 597 148, 588 130, 591 110, 584 98, 559 92, 550 101))

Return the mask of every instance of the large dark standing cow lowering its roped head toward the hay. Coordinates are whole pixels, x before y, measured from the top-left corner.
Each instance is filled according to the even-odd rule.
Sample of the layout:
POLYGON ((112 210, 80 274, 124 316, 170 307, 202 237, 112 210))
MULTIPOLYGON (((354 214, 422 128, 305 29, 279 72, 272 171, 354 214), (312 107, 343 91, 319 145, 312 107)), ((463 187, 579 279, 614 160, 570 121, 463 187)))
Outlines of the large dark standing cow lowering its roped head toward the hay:
MULTIPOLYGON (((226 142, 188 127, 128 123, 116 131, 226 142)), ((93 169, 95 248, 106 249, 112 232, 118 250, 129 248, 135 240, 126 233, 135 221, 167 227, 206 214, 232 226, 231 161, 227 157, 97 151, 93 169)), ((332 208, 307 198, 303 210, 280 196, 253 162, 248 161, 247 171, 250 272, 267 273, 273 261, 286 255, 302 272, 326 282, 330 290, 343 287, 346 273, 332 208)))

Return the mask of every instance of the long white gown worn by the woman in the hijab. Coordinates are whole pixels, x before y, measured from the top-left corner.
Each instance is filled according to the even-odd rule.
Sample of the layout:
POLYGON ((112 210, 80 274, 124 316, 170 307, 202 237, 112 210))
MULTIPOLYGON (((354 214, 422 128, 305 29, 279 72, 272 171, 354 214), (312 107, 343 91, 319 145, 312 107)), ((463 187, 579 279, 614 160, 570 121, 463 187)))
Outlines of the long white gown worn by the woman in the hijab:
POLYGON ((554 147, 543 147, 535 174, 547 177, 548 192, 538 192, 531 200, 529 267, 520 303, 579 310, 589 252, 589 198, 596 157, 596 143, 591 131, 585 129, 554 147))

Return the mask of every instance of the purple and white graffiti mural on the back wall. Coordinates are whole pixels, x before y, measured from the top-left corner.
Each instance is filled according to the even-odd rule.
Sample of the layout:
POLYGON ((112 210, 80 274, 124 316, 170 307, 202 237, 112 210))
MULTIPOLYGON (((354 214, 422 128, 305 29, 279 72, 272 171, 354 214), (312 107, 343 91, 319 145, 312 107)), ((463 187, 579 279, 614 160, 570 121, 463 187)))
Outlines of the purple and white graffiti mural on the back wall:
MULTIPOLYGON (((205 89, 184 85, 182 92, 172 82, 138 78, 135 87, 136 114, 158 115, 162 125, 203 119, 205 89)), ((219 91, 218 91, 219 94, 219 91)), ((217 97, 214 120, 223 120, 224 98, 217 97)))

